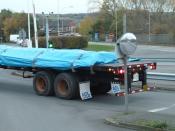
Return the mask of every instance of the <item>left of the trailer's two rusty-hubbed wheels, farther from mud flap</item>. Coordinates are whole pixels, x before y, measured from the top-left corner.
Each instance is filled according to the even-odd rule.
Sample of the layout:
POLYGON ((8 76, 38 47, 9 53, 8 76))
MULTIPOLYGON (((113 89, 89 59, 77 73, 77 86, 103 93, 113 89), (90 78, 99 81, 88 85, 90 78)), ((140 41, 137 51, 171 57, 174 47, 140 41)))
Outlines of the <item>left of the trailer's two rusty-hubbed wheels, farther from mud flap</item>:
POLYGON ((33 79, 33 88, 38 95, 51 96, 54 94, 53 83, 55 75, 52 72, 37 72, 33 79))

